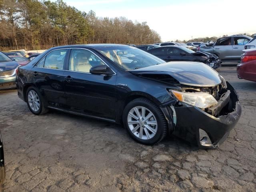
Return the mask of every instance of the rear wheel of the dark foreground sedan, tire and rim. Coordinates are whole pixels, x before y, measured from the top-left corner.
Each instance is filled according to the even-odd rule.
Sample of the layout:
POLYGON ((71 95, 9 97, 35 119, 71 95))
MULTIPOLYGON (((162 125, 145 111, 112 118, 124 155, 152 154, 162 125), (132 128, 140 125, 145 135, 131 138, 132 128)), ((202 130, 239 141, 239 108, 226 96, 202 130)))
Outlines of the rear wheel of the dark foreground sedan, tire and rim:
POLYGON ((48 112, 46 103, 36 88, 34 87, 28 88, 26 92, 26 101, 27 101, 28 108, 33 114, 42 115, 48 112), (33 98, 31 96, 35 98, 34 104, 33 104, 33 98))

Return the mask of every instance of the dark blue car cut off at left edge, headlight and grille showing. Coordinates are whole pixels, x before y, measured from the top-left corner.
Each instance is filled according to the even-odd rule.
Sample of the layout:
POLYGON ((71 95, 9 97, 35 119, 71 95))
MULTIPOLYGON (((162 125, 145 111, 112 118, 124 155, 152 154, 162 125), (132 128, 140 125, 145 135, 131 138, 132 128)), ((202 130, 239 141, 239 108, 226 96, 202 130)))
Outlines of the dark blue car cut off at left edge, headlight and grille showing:
POLYGON ((0 52, 0 90, 16 88, 16 69, 19 64, 0 52))

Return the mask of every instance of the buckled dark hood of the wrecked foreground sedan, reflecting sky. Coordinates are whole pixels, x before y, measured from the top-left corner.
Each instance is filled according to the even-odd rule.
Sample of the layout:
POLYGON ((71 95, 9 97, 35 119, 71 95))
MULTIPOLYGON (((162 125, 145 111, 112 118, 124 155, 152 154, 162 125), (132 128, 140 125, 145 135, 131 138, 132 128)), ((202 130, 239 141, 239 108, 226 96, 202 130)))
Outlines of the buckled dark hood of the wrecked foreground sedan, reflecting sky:
MULTIPOLYGON (((130 71, 145 78, 162 80, 161 76, 169 75, 180 84, 190 86, 209 87, 216 86, 222 82, 220 75, 211 67, 199 62, 167 62, 150 67, 144 67, 130 71)), ((166 78, 164 78, 165 82, 166 78)))

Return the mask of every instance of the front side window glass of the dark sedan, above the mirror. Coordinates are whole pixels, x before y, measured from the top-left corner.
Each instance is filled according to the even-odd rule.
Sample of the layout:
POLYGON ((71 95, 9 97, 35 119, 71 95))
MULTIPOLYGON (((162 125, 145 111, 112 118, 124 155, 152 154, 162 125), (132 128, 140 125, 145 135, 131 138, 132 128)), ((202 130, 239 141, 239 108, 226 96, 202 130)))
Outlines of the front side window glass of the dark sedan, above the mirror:
POLYGON ((84 49, 72 49, 69 59, 69 70, 77 72, 90 72, 90 68, 104 65, 98 56, 84 49))

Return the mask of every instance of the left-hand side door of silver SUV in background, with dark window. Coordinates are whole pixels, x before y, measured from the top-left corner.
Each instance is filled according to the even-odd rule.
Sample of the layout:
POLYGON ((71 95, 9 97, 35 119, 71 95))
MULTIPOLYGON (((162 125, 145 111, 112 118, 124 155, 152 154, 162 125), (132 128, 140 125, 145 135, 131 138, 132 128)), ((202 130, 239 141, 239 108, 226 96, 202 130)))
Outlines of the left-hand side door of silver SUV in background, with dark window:
POLYGON ((232 60, 234 58, 231 40, 231 37, 217 40, 213 52, 219 56, 220 60, 232 60))

